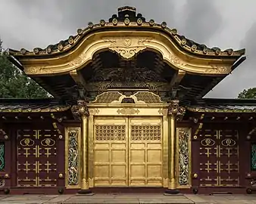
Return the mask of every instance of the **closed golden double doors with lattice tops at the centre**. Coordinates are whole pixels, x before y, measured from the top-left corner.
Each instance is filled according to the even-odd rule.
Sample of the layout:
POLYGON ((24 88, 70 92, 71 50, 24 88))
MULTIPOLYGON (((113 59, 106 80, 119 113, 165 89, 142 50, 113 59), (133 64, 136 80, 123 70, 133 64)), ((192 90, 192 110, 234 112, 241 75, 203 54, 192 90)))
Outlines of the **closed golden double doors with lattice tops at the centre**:
POLYGON ((162 187, 162 119, 96 118, 95 187, 162 187))

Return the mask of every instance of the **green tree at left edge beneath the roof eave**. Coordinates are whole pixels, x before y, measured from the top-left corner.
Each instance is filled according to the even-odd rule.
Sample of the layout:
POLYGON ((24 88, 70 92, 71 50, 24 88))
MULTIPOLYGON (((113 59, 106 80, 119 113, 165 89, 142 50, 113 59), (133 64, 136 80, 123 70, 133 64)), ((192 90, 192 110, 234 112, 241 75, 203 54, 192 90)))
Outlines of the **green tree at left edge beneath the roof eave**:
POLYGON ((8 60, 8 52, 0 40, 0 98, 45 97, 51 95, 8 60))

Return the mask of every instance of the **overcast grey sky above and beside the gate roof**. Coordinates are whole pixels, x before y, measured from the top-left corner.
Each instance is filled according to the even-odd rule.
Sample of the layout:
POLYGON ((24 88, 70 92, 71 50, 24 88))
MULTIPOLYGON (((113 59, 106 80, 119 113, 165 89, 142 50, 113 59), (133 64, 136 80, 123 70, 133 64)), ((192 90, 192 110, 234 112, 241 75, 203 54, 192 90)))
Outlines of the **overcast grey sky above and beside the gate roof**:
POLYGON ((246 48, 247 60, 208 97, 237 97, 256 87, 255 0, 0 0, 0 37, 5 48, 46 48, 124 5, 210 48, 246 48))

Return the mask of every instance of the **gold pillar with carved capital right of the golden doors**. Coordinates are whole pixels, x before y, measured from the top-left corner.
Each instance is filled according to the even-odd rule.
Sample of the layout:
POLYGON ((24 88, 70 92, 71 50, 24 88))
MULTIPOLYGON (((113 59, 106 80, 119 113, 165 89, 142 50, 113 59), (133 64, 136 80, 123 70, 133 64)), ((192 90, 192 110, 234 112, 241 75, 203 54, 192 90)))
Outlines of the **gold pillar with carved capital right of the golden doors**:
POLYGON ((166 193, 176 194, 179 190, 176 190, 176 120, 180 119, 185 113, 185 108, 179 107, 179 100, 171 100, 170 107, 168 109, 169 116, 169 151, 168 151, 168 168, 169 168, 169 183, 166 193))

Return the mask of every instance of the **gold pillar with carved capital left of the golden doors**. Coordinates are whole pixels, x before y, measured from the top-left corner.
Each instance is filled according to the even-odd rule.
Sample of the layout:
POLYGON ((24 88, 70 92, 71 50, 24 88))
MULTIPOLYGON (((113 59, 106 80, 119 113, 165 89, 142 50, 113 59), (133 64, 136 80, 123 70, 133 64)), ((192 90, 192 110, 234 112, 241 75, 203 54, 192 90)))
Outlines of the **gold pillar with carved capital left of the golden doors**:
POLYGON ((81 190, 78 192, 80 194, 92 193, 89 190, 89 174, 88 174, 88 117, 89 110, 86 106, 86 102, 83 100, 78 100, 77 105, 72 107, 73 116, 76 119, 82 120, 81 128, 81 153, 80 153, 80 168, 81 168, 81 190))

